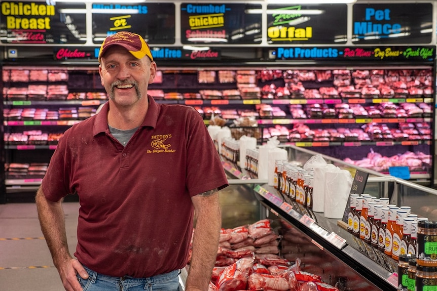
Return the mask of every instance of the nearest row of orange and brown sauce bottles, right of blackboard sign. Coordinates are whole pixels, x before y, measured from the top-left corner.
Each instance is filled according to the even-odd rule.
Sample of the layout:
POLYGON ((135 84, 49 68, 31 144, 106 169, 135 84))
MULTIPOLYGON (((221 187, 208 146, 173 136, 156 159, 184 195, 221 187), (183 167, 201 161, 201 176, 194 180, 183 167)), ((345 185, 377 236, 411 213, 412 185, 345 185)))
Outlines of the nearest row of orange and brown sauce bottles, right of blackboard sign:
POLYGON ((410 206, 388 204, 388 198, 351 194, 348 231, 398 260, 417 253, 417 223, 427 220, 411 214, 410 206))

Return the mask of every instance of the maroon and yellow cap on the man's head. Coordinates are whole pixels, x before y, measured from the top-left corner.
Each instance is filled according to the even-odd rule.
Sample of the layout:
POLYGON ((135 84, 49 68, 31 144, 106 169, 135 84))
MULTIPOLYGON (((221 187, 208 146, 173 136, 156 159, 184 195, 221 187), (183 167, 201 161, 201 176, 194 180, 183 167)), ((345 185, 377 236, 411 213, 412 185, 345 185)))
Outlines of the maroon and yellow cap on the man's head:
POLYGON ((103 40, 99 52, 99 63, 101 56, 112 46, 122 46, 137 59, 148 56, 153 61, 149 45, 141 35, 129 31, 119 31, 116 34, 107 36, 105 40, 103 40))

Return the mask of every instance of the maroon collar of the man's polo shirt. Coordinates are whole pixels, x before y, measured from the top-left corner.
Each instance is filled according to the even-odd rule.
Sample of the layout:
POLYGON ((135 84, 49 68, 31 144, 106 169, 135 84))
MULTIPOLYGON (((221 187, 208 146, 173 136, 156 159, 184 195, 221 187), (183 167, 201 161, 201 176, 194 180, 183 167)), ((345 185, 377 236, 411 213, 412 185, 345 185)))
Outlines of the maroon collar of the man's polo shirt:
MULTIPOLYGON (((155 128, 159 115, 159 106, 150 95, 148 95, 147 98, 149 99, 149 108, 147 109, 147 113, 145 114, 145 118, 142 121, 141 127, 155 128)), ((99 133, 106 132, 108 128, 108 120, 107 120, 108 110, 109 110, 109 101, 103 105, 100 112, 97 113, 96 115, 96 120, 93 127, 93 136, 96 136, 99 133)))

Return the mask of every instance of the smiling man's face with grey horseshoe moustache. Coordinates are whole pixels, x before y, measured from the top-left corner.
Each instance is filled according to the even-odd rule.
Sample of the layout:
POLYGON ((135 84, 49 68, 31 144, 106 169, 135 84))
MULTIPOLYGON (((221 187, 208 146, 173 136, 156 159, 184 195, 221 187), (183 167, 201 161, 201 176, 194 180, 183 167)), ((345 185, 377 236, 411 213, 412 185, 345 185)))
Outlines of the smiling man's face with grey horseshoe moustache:
POLYGON ((147 97, 147 88, 156 74, 156 64, 147 56, 137 59, 125 48, 114 46, 102 56, 99 73, 110 99, 129 106, 147 97))

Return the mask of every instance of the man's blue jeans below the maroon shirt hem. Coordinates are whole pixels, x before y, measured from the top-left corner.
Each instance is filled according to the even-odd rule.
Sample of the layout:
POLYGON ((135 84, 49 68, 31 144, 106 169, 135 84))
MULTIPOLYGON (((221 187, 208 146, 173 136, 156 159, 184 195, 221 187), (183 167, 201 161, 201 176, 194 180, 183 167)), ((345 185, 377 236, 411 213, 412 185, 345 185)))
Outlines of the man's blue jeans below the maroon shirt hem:
POLYGON ((88 279, 77 275, 84 291, 177 291, 179 287, 179 271, 156 275, 150 278, 111 277, 102 275, 85 267, 88 279))

